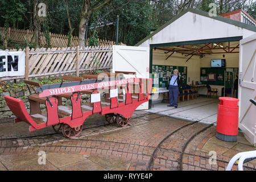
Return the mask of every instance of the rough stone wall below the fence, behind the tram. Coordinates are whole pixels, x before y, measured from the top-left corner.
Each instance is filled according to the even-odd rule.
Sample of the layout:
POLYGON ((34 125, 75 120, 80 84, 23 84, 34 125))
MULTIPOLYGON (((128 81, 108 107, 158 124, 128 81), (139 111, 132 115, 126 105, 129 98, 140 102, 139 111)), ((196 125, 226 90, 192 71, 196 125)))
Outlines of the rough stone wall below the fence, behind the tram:
MULTIPOLYGON (((11 96, 22 100, 24 102, 24 105, 26 106, 28 113, 30 113, 30 103, 28 102, 28 96, 30 96, 30 93, 28 92, 27 87, 15 88, 15 90, 13 89, 9 90, 9 92, 0 93, 0 119, 15 118, 15 115, 13 115, 5 102, 5 96, 11 96)), ((90 96, 88 94, 82 94, 81 98, 82 103, 90 102, 90 96)), ((71 100, 62 98, 62 105, 71 105, 71 100)), ((42 110, 42 112, 46 111, 46 105, 40 104, 40 109, 42 110)))

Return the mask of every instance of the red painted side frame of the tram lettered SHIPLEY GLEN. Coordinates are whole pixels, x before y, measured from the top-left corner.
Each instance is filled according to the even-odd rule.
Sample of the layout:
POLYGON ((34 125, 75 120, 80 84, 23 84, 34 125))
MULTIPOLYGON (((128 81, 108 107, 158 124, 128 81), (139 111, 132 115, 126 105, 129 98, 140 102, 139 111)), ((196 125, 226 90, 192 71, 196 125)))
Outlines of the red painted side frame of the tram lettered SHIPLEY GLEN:
MULTIPOLYGON (((121 117, 123 122, 129 121, 131 115, 133 115, 134 110, 144 102, 147 102, 150 99, 150 93, 152 89, 152 79, 151 78, 128 78, 123 80, 114 80, 107 82, 97 82, 94 84, 84 84, 84 85, 75 85, 68 86, 64 88, 56 88, 53 92, 53 89, 43 90, 42 93, 39 94, 39 98, 47 97, 45 101, 46 109, 47 109, 47 121, 43 123, 36 123, 24 105, 22 100, 17 98, 13 98, 10 96, 5 96, 6 104, 9 106, 10 110, 16 116, 15 123, 17 122, 26 122, 30 125, 29 131, 43 129, 48 126, 56 126, 56 125, 66 125, 67 129, 63 129, 63 134, 68 138, 77 137, 82 130, 82 125, 86 118, 89 115, 100 113, 101 115, 108 114, 117 114, 118 118, 121 117), (143 83, 146 82, 147 90, 143 92, 143 83), (133 99, 133 87, 137 84, 138 86, 138 97, 133 99), (110 98, 110 105, 102 106, 100 102, 93 102, 93 109, 89 111, 82 112, 82 104, 81 104, 81 93, 85 90, 93 90, 92 94, 97 94, 99 89, 115 89, 117 86, 121 88, 125 88, 125 102, 118 103, 118 95, 117 97, 110 98), (53 94, 54 93, 54 94, 53 94), (71 102, 72 102, 72 114, 68 117, 59 117, 58 107, 61 103, 58 103, 57 96, 61 96, 61 94, 72 93, 71 102), (53 96, 53 97, 49 97, 53 96), (48 98, 49 97, 49 98, 48 98), (69 135, 72 132, 76 133, 73 137, 69 137, 69 135, 65 134, 68 132, 69 135)), ((137 93, 136 93, 137 94, 137 93)), ((119 122, 119 121, 118 121, 119 122)), ((119 125, 120 126, 120 125, 119 125)), ((127 125, 121 125, 127 126, 127 125)))

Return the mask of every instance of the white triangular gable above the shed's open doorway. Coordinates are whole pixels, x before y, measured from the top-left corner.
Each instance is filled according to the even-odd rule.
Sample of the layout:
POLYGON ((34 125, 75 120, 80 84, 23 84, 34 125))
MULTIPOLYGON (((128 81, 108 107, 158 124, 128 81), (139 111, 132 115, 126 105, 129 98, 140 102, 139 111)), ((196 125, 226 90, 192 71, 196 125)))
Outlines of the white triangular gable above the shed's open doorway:
POLYGON ((149 47, 150 44, 228 38, 233 36, 247 38, 253 34, 255 34, 254 31, 188 12, 139 46, 149 47))

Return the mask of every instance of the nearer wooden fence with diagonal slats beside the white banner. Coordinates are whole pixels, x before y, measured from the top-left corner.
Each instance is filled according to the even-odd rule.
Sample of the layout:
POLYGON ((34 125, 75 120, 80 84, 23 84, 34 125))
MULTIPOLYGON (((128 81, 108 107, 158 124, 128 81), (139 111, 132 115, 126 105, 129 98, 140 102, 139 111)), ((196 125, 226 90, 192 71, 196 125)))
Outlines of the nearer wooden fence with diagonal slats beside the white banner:
POLYGON ((112 46, 99 47, 65 47, 65 48, 37 48, 25 51, 25 76, 2 77, 3 80, 20 78, 39 78, 48 76, 77 75, 88 71, 112 68, 112 46))

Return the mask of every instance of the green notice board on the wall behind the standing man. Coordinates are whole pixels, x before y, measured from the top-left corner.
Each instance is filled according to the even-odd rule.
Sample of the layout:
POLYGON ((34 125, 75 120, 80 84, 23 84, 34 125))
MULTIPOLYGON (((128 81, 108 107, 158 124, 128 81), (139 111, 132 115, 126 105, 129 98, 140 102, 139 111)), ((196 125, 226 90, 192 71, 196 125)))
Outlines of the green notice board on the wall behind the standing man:
POLYGON ((183 84, 187 85, 188 67, 179 67, 171 65, 152 65, 152 87, 167 87, 170 80, 170 76, 173 75, 174 69, 179 70, 179 75, 182 77, 183 84))

